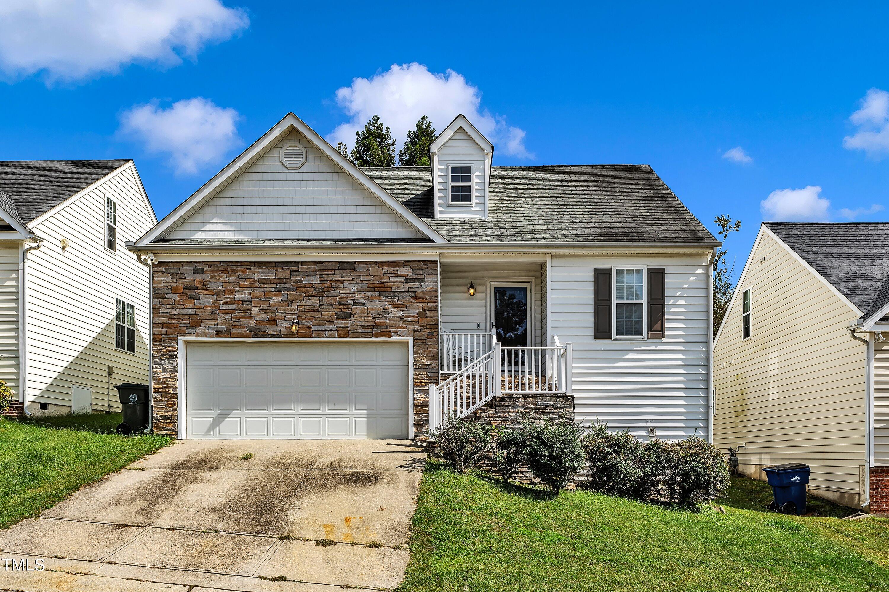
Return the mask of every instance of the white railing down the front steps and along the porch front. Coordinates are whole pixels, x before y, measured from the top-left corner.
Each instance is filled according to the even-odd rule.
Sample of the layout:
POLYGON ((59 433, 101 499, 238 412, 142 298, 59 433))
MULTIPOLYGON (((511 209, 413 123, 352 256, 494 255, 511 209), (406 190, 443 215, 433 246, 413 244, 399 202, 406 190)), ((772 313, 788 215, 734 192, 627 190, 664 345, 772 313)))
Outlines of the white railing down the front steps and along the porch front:
POLYGON ((571 393, 572 344, 501 347, 473 360, 441 384, 429 384, 429 430, 461 419, 501 394, 571 393))

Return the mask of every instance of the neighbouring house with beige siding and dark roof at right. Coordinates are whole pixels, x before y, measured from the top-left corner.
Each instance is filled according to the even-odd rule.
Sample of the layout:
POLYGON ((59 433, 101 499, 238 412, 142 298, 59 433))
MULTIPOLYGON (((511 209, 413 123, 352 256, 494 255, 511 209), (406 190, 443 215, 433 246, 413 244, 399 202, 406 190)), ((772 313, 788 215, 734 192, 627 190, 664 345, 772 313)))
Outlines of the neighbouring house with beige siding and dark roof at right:
POLYGON ((889 224, 759 230, 714 346, 714 442, 745 475, 889 514, 889 224))

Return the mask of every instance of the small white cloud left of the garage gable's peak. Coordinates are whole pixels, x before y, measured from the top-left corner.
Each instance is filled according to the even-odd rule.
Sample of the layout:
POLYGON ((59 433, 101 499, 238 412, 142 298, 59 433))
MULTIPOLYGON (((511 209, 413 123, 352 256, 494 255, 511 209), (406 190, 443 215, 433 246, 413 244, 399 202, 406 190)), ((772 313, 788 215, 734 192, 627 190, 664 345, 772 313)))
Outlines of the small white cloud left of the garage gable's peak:
POLYGON ((121 116, 122 135, 140 141, 149 153, 169 154, 177 173, 196 173, 219 162, 237 146, 235 109, 216 107, 211 100, 184 99, 163 109, 157 103, 137 105, 121 116))

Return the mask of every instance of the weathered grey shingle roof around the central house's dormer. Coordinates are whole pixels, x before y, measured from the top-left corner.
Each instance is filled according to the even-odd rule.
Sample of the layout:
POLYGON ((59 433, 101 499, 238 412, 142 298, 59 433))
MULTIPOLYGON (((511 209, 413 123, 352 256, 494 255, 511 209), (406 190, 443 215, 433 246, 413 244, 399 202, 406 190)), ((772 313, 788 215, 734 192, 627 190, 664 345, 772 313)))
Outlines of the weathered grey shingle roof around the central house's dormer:
POLYGON ((486 220, 436 219, 428 167, 362 170, 448 241, 716 241, 647 164, 492 167, 486 220))

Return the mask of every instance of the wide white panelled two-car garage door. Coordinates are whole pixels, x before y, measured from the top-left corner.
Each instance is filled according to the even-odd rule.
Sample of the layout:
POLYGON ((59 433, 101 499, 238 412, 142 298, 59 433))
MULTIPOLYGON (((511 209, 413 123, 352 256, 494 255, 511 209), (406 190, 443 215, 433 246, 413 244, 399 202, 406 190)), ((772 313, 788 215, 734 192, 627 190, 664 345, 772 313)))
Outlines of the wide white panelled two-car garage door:
POLYGON ((188 343, 186 438, 407 438, 406 343, 188 343))

